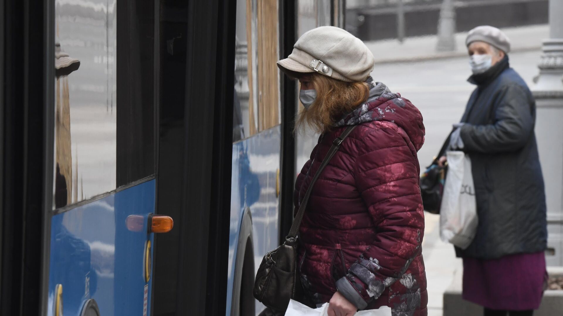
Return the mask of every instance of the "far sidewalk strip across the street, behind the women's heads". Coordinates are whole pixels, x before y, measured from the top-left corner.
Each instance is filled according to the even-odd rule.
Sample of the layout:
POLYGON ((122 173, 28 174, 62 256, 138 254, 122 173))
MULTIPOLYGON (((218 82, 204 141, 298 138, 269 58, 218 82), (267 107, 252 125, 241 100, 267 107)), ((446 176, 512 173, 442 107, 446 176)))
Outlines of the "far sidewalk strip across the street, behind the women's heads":
MULTIPOLYGON (((510 38, 511 52, 531 51, 542 47, 542 40, 549 37, 549 26, 530 25, 517 28, 504 28, 510 38)), ((376 57, 376 64, 390 62, 414 62, 437 58, 466 56, 465 38, 467 32, 455 34, 456 50, 436 52, 437 35, 405 38, 403 43, 396 39, 365 42, 376 57)))

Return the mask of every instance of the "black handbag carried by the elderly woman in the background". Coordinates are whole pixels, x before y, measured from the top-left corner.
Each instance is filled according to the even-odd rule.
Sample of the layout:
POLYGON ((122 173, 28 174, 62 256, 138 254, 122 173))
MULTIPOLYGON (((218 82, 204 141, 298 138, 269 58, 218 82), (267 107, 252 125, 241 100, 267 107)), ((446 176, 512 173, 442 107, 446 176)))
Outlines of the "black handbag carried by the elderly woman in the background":
MULTIPOLYGON (((451 136, 451 133, 450 133, 451 136)), ((432 160, 430 166, 421 175, 420 187, 422 195, 422 205, 424 210, 432 214, 440 214, 442 195, 444 193, 444 183, 448 174, 448 163, 443 167, 438 165, 438 160, 444 155, 450 143, 450 136, 444 142, 438 155, 432 160)))

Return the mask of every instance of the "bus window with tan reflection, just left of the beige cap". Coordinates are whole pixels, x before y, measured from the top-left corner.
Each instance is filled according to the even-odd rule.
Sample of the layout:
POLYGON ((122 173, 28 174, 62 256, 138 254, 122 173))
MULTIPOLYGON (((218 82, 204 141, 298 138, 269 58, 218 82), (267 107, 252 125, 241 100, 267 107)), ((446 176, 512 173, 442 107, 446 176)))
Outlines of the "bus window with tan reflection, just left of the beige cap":
POLYGON ((233 141, 280 124, 278 1, 236 3, 233 141))

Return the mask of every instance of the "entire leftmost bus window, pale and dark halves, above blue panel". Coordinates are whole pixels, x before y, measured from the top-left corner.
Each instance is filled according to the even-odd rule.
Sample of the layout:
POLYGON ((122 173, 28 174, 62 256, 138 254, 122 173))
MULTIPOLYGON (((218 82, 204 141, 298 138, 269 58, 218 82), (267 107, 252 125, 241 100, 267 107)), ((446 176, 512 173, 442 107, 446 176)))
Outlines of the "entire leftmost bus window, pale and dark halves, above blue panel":
POLYGON ((155 172, 153 6, 136 3, 136 19, 115 2, 55 6, 55 209, 155 172))

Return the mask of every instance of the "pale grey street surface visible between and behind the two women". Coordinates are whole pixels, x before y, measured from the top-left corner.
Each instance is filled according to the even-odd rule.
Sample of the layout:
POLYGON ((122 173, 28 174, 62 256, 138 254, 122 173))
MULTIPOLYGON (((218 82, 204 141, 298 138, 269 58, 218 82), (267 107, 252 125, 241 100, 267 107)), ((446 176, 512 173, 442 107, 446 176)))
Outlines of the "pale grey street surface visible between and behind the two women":
MULTIPOLYGON (((533 87, 540 51, 515 52, 508 56, 511 67, 530 88, 533 87)), ((467 57, 376 65, 372 73, 374 80, 385 83, 392 92, 401 93, 422 112, 426 141, 418 152, 421 170, 440 150, 452 123, 461 118, 475 88, 467 82, 470 74, 467 57)), ((439 215, 426 213, 425 216, 422 252, 428 281, 428 315, 442 315, 443 293, 452 283, 454 270, 461 268, 461 260, 455 258, 453 246, 440 240, 439 215)))

